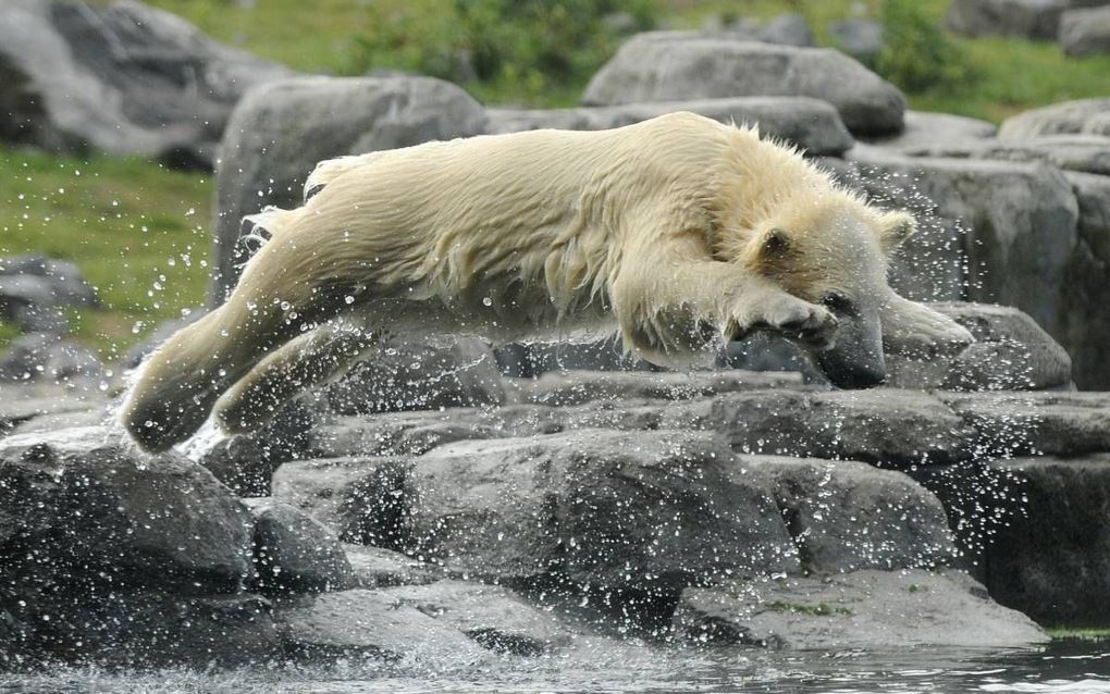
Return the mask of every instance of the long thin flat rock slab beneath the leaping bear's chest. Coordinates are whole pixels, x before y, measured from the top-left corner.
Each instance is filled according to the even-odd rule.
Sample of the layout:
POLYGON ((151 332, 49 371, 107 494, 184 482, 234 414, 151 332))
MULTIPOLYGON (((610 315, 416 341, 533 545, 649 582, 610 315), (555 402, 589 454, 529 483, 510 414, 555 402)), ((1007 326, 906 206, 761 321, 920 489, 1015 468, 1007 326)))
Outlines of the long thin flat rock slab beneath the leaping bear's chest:
POLYGON ((737 391, 801 385, 801 374, 790 372, 700 371, 690 373, 635 373, 567 371, 538 379, 518 379, 513 390, 522 402, 578 405, 595 400, 686 400, 737 391))

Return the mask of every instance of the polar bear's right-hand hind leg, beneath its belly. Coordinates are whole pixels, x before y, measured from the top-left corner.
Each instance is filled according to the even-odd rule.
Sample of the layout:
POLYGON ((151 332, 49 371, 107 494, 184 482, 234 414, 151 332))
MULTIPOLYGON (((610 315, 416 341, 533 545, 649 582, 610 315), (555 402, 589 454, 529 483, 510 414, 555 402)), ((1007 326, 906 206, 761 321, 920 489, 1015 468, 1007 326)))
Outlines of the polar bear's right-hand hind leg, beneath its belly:
POLYGON ((215 404, 224 432, 260 429, 301 391, 342 375, 377 343, 376 335, 344 322, 286 342, 240 379, 215 404))

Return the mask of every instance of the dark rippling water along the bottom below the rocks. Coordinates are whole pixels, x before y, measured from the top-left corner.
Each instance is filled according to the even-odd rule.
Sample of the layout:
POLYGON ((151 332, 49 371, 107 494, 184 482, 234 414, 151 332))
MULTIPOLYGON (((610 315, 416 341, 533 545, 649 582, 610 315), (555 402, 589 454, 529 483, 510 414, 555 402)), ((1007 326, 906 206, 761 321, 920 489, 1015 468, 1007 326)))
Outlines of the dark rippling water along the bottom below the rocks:
MULTIPOLYGON (((0 676, 2 677, 2 676, 0 676)), ((1041 650, 657 650, 583 640, 569 653, 427 666, 344 664, 219 673, 72 670, 0 678, 0 692, 1083 692, 1110 693, 1110 643, 1041 650)))

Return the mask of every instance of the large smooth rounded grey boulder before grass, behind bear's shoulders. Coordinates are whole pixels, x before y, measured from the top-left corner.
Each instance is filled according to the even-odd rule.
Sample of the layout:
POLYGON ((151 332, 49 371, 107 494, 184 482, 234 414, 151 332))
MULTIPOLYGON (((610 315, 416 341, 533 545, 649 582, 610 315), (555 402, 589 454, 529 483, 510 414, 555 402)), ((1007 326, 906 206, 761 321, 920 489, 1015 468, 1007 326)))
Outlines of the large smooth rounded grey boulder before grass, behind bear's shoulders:
POLYGON ((680 31, 633 37, 589 81, 583 103, 754 95, 828 101, 859 134, 900 131, 906 110, 897 89, 837 51, 680 31))

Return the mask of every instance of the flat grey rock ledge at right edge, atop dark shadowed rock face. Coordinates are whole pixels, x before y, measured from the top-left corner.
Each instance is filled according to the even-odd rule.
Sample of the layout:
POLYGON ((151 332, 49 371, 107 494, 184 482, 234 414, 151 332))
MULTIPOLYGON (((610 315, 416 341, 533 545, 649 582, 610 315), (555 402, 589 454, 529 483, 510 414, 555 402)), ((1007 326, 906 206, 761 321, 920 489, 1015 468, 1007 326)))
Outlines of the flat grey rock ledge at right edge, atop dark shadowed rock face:
POLYGON ((975 429, 976 457, 1110 452, 1107 393, 938 393, 975 429))

